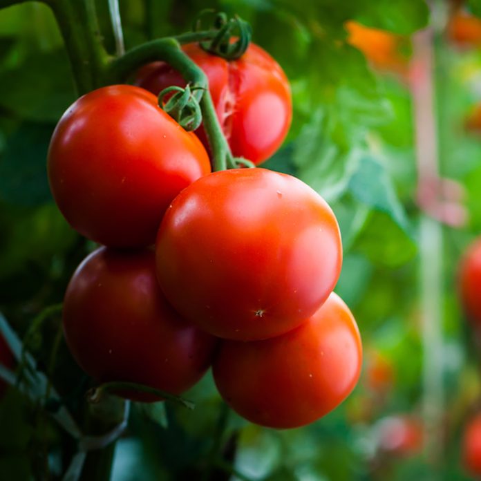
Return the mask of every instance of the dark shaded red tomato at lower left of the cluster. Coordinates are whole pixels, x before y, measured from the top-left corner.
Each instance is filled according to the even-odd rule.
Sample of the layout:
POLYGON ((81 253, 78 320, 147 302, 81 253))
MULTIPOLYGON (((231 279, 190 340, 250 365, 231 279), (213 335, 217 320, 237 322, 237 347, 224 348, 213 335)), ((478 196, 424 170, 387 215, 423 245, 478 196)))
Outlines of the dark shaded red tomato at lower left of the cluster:
POLYGON ((214 349, 213 337, 165 301, 151 250, 102 247, 88 256, 67 287, 64 333, 73 357, 97 381, 130 381, 175 394, 204 375, 214 349))

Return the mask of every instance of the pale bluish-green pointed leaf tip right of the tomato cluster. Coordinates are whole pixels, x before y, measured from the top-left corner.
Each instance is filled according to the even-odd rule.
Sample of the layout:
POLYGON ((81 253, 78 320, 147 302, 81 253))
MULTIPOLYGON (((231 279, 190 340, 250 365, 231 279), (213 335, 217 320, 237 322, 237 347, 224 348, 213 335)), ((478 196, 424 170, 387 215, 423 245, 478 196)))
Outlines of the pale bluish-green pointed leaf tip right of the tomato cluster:
POLYGON ((409 232, 406 213, 395 194, 386 169, 377 160, 368 155, 360 159, 357 171, 350 178, 349 191, 359 202, 385 212, 399 227, 409 232))

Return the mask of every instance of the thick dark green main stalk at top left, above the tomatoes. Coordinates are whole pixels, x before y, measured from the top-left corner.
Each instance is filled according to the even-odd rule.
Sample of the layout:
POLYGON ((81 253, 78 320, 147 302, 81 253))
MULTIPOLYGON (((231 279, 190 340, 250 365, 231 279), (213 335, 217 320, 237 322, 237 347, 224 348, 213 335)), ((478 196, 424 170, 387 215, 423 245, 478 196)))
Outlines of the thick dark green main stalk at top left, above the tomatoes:
POLYGON ((50 0, 64 37, 77 93, 103 85, 109 56, 102 44, 94 0, 50 0))

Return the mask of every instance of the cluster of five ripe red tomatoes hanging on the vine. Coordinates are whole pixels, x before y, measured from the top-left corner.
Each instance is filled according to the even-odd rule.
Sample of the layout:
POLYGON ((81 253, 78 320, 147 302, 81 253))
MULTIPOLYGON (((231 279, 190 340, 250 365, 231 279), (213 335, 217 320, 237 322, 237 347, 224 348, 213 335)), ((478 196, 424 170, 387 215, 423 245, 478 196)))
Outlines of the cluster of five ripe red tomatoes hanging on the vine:
MULTIPOLYGON (((272 155, 292 115, 280 66, 252 44, 234 61, 184 50, 207 74, 234 155, 272 155)), ((182 77, 159 62, 136 84, 79 98, 50 142, 59 209, 103 245, 66 290, 70 351, 97 381, 173 394, 212 366, 220 395, 250 421, 313 422, 350 393, 361 366, 355 319, 332 293, 342 263, 332 210, 283 173, 211 173, 202 126, 185 131, 147 91, 182 77)))

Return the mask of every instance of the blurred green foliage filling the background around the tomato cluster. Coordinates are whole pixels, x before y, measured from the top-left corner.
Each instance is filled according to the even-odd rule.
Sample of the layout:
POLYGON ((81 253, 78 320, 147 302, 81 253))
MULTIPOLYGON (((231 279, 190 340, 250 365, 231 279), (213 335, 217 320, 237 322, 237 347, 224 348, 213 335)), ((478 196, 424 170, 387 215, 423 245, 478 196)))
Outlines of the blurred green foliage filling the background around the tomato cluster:
MULTIPOLYGON (((472 1, 473 10, 479 8, 472 1)), ((120 1, 126 47, 189 30, 205 1, 120 1)), ((237 12, 252 24, 254 41, 284 68, 292 84, 289 137, 265 167, 299 176, 332 205, 343 236, 344 262, 336 291, 359 323, 366 362, 380 352, 393 366, 393 385, 380 399, 365 378, 340 408, 306 428, 274 431, 232 415, 238 433, 234 469, 249 480, 406 480, 444 473, 468 479, 459 461, 464 408, 480 391, 475 360, 455 293, 455 266, 481 229, 481 142, 463 129, 481 97, 479 50, 460 53, 440 32, 435 39, 435 99, 444 176, 462 182, 470 220, 444 229, 444 455, 437 464, 376 455, 377 421, 420 415, 422 343, 419 327, 417 173, 413 106, 406 80, 374 70, 347 43, 344 23, 411 35, 430 21, 422 0, 225 0, 209 6, 237 12)), ((113 34, 106 1, 97 1, 110 52, 113 34)), ((53 204, 45 160, 50 135, 75 100, 70 67, 53 15, 40 3, 0 10, 0 310, 39 366, 48 369, 64 402, 82 411, 89 380, 61 342, 50 362, 59 317, 33 328, 48 305, 62 302, 79 261, 95 246, 66 224, 53 204), (79 400, 80 399, 80 400, 79 400), (77 403, 77 404, 76 404, 77 403)), ((220 398, 207 375, 185 395, 194 411, 167 404, 134 406, 117 443, 113 480, 188 480, 209 452, 220 398)), ((15 390, 0 402, 3 479, 57 479, 75 452, 48 414, 15 390)), ((235 476, 234 476, 235 479, 235 476)), ((442 479, 441 477, 435 479, 442 479)))

